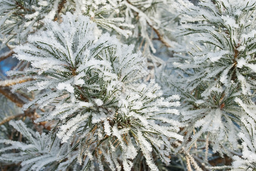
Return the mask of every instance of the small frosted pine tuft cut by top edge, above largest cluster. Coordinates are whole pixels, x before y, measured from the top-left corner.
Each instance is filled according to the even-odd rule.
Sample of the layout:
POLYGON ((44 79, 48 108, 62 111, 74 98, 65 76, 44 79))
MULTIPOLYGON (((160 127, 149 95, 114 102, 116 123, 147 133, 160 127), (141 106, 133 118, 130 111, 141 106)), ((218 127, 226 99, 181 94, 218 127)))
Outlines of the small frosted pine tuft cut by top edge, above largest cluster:
MULTIPOLYGON (((134 26, 126 24, 125 17, 119 14, 123 8, 122 1, 69 0, 65 6, 71 7, 74 14, 89 16, 91 21, 108 31, 115 31, 126 38, 132 34, 131 28, 134 26)), ((101 31, 98 30, 99 34, 101 31)))

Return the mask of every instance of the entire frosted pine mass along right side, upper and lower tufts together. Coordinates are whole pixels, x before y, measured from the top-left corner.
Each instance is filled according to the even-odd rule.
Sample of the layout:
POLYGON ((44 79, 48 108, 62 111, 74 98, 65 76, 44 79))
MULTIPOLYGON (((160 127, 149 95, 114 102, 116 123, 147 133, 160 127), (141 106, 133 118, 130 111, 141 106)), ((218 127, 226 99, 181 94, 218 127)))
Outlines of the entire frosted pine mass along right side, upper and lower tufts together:
POLYGON ((158 83, 170 87, 167 95, 181 95, 179 119, 188 126, 177 151, 197 148, 197 141, 209 133, 213 152, 233 156, 231 151, 239 148, 241 117, 254 116, 243 105, 255 96, 256 2, 174 4, 183 14, 179 35, 190 42, 174 50, 174 58, 162 70, 167 74, 161 72, 158 83))

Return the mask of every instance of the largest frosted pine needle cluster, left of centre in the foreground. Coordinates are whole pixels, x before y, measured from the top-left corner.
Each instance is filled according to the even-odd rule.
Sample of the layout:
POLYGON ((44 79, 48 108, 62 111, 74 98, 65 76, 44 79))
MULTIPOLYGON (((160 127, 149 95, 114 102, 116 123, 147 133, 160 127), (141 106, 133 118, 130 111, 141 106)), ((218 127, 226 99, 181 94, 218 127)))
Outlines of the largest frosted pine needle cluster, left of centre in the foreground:
POLYGON ((168 164, 170 140, 183 141, 177 133, 182 124, 172 118, 179 114, 179 96, 165 99, 154 80, 140 83, 147 68, 133 46, 109 34, 96 38, 88 17, 67 13, 62 19, 60 24, 46 21, 46 31, 30 35, 27 44, 14 50, 31 67, 9 74, 33 80, 13 88, 42 90, 23 109, 54 107, 36 122, 55 120, 53 137, 74 146, 69 153, 78 150, 74 155, 85 167, 95 160, 102 169, 104 159, 110 169, 120 170, 122 160, 123 169, 130 170, 139 150, 152 170, 158 170, 152 153, 168 164), (120 149, 121 158, 115 154, 120 149))

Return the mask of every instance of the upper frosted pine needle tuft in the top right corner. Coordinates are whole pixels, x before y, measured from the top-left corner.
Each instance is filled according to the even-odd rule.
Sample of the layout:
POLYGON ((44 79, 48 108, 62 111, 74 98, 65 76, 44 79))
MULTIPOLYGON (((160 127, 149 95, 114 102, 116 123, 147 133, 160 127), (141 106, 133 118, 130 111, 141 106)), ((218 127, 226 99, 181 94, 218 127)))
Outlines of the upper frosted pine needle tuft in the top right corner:
POLYGON ((180 66, 194 70, 187 87, 192 90, 204 83, 211 87, 221 83, 227 89, 239 86, 243 95, 250 95, 255 86, 255 34, 251 34, 255 32, 255 2, 207 0, 200 1, 199 6, 187 3, 178 7, 185 14, 181 34, 198 34, 195 41, 201 43, 194 42, 189 51, 193 58, 180 66))

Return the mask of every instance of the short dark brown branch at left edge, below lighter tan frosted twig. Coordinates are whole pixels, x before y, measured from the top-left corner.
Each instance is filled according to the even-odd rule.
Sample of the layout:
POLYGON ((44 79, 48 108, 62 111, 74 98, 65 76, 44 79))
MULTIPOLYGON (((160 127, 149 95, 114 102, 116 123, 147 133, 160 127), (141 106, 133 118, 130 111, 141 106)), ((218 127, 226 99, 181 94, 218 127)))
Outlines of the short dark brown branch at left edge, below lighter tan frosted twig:
POLYGON ((7 99, 13 101, 18 107, 22 107, 25 104, 17 93, 11 92, 10 88, 8 87, 0 87, 0 93, 4 95, 7 99))

